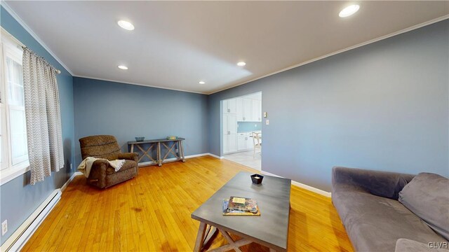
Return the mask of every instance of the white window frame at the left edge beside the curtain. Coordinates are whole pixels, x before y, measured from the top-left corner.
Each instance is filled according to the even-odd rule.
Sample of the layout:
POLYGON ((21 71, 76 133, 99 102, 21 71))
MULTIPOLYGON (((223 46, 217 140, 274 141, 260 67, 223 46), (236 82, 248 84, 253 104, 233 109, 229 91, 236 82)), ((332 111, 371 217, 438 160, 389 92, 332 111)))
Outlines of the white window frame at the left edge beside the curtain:
POLYGON ((0 41, 0 116, 1 116, 1 162, 0 162, 0 186, 8 181, 11 181, 18 176, 25 174, 29 171, 28 156, 22 156, 18 158, 18 163, 13 164, 11 155, 11 128, 10 128, 10 109, 24 110, 25 106, 9 105, 8 93, 6 85, 6 55, 13 58, 16 62, 22 63, 22 43, 14 38, 11 34, 1 28, 1 41, 0 41))

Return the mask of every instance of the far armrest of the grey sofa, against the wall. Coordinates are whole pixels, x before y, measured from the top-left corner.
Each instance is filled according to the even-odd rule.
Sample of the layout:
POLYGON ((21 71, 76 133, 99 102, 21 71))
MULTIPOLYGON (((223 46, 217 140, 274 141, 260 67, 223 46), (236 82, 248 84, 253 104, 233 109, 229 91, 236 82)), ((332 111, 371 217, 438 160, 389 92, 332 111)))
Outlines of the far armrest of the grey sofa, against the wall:
POLYGON ((396 172, 333 167, 332 193, 341 190, 358 190, 398 200, 399 192, 414 176, 396 172))

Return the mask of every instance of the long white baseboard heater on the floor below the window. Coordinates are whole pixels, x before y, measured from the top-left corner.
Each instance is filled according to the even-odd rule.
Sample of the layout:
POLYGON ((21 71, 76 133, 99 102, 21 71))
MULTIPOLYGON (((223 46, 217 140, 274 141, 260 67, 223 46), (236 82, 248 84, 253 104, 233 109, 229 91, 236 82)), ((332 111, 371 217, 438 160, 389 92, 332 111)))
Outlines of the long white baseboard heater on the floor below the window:
POLYGON ((13 235, 9 237, 0 247, 0 251, 20 251, 27 243, 42 221, 48 216, 55 204, 61 198, 61 190, 56 189, 49 195, 46 200, 25 220, 20 227, 15 230, 13 235))

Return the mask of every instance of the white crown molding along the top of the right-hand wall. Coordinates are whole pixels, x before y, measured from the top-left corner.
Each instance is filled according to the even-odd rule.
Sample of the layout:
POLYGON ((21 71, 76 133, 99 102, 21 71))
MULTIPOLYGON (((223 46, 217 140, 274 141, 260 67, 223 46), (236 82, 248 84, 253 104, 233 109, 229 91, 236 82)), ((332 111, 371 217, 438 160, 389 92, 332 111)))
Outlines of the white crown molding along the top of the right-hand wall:
POLYGON ((253 79, 247 80, 247 81, 245 81, 245 82, 243 82, 243 83, 239 83, 239 84, 233 85, 232 87, 226 87, 226 88, 223 88, 223 89, 221 89, 221 90, 217 90, 217 91, 210 92, 210 93, 208 93, 208 94, 215 94, 215 93, 217 93, 217 92, 222 92, 222 91, 224 91, 224 90, 229 90, 229 89, 231 89, 231 88, 233 88, 233 87, 238 87, 239 85, 243 85, 243 84, 246 84, 246 83, 253 82, 253 81, 255 81, 255 80, 259 80, 259 79, 261 79, 261 78, 265 78, 265 77, 268 77, 268 76, 272 76, 272 75, 274 75, 274 74, 276 74, 276 73, 281 73, 281 72, 283 72, 283 71, 287 71, 287 70, 290 70, 290 69, 294 69, 295 67, 303 66, 303 65, 309 64, 309 63, 311 63, 311 62, 316 62, 317 60, 324 59, 324 58, 326 58, 326 57, 330 57, 330 56, 333 56, 333 55, 337 55, 337 54, 339 54, 339 53, 346 52, 346 51, 349 51, 349 50, 352 50, 352 49, 355 49, 355 48, 359 48, 359 47, 361 47, 361 46, 363 46, 363 45, 368 45, 368 44, 370 44, 370 43, 375 43, 375 42, 377 42, 377 41, 384 40, 385 38, 391 38, 392 36, 396 36, 396 35, 399 35, 399 34, 403 34, 403 33, 406 33, 406 32, 408 32, 408 31, 413 31, 414 29, 419 29, 419 28, 421 28, 421 27, 425 27, 425 26, 427 26, 427 25, 431 25, 431 24, 434 24, 434 23, 436 23, 436 22, 440 22, 440 21, 446 20, 446 19, 448 19, 448 18, 449 18, 449 15, 443 15, 443 16, 440 17, 440 18, 435 18, 435 19, 433 19, 433 20, 429 20, 429 21, 423 22, 423 23, 418 24, 418 25, 413 25, 413 26, 408 27, 408 28, 406 28, 406 29, 401 29, 400 31, 395 31, 395 32, 393 32, 393 33, 391 33, 391 34, 387 34, 387 35, 384 35, 384 36, 380 36, 380 37, 378 37, 378 38, 373 38, 373 39, 371 39, 370 41, 366 41, 366 42, 363 42, 363 43, 359 43, 359 44, 357 44, 357 45, 352 45, 352 46, 349 46, 348 48, 344 48, 344 49, 342 49, 342 50, 337 50, 337 51, 335 51, 335 52, 330 52, 330 53, 327 54, 327 55, 323 55, 323 56, 321 56, 321 57, 316 57, 316 58, 314 58, 314 59, 310 59, 310 60, 308 60, 307 62, 302 62, 302 63, 300 63, 300 64, 295 64, 295 65, 293 65, 293 66, 288 66, 288 67, 286 67, 286 68, 284 68, 284 69, 281 69, 281 70, 279 70, 279 71, 274 71, 274 72, 268 73, 268 74, 266 74, 266 75, 264 75, 264 76, 260 76, 260 77, 257 77, 257 78, 253 78, 253 79))

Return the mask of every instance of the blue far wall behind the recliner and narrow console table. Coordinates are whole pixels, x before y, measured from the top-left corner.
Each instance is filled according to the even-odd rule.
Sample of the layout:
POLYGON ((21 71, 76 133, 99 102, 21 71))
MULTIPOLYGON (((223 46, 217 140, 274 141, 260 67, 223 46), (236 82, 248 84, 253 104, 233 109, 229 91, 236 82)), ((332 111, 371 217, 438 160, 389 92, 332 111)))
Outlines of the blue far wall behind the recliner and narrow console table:
POLYGON ((208 153, 207 96, 89 78, 74 78, 76 165, 81 137, 112 134, 122 151, 134 137, 185 138, 185 155, 208 153))

